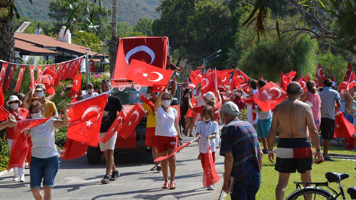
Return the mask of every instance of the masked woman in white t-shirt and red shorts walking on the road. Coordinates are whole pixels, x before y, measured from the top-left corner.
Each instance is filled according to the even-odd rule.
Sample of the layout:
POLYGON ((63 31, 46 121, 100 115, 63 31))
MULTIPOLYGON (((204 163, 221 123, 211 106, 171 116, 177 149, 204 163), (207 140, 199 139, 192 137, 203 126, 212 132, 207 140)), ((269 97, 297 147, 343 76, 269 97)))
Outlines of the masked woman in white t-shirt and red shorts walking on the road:
MULTIPOLYGON (((179 144, 183 145, 182 137, 178 128, 177 110, 169 107, 172 102, 172 95, 169 93, 159 93, 155 102, 156 131, 155 143, 159 157, 170 155, 177 148, 177 137, 179 144), (162 106, 160 102, 162 100, 162 106)), ((162 174, 164 178, 163 189, 176 189, 174 175, 176 174, 176 155, 161 161, 162 174), (171 173, 171 183, 168 183, 168 163, 171 173)))

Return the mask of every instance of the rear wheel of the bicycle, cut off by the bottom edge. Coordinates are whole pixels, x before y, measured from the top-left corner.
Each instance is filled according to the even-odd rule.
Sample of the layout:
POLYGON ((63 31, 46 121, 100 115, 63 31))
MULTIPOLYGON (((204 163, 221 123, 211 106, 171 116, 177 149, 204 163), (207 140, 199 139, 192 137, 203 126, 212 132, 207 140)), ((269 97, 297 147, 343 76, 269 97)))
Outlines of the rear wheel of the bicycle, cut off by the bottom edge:
MULTIPOLYGON (((321 189, 321 188, 305 188, 304 189, 304 194, 305 195, 311 195, 311 199, 313 200, 321 200, 321 199, 328 199, 329 197, 334 197, 332 194, 330 194, 328 191, 321 189)), ((287 198, 286 200, 304 200, 304 195, 302 190, 298 189, 293 191, 287 198)), ((335 199, 336 200, 336 199, 335 199)))

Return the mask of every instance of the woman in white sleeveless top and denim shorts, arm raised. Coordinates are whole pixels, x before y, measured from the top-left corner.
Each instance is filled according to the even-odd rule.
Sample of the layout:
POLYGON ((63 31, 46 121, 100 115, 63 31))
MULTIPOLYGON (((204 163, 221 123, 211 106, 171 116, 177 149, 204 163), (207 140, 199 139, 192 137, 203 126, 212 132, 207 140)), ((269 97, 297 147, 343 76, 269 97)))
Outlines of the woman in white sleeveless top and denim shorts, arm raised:
MULTIPOLYGON (((32 140, 30 189, 35 199, 52 199, 53 182, 59 169, 58 151, 54 144, 54 128, 68 125, 67 110, 73 105, 67 104, 63 108, 63 120, 51 118, 25 131, 25 135, 31 134, 32 140), (42 178, 43 196, 40 192, 42 178)), ((43 118, 45 115, 45 107, 40 102, 31 104, 28 110, 32 119, 43 118)))

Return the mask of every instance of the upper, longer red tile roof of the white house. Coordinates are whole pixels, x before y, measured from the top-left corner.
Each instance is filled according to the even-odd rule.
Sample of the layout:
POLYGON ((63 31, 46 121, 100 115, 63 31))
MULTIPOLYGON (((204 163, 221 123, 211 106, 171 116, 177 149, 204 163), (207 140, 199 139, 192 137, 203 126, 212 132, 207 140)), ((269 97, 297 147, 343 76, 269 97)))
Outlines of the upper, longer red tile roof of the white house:
MULTIPOLYGON (((31 33, 14 33, 14 38, 26 42, 34 43, 34 44, 40 44, 44 48, 46 47, 62 48, 62 49, 68 49, 70 51, 78 52, 80 54, 85 54, 85 52, 89 53, 88 47, 84 47, 74 43, 64 42, 57 38, 46 36, 46 35, 36 35, 31 33)), ((97 52, 91 51, 91 53, 96 54, 97 52)), ((97 56, 103 56, 103 54, 100 53, 97 56)))

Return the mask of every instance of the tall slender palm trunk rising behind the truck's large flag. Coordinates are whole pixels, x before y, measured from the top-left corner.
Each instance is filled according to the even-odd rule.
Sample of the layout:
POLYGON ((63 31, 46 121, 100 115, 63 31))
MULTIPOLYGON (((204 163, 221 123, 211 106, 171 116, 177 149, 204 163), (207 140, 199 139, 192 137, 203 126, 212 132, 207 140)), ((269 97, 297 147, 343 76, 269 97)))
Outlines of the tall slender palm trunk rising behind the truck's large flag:
POLYGON ((117 53, 117 0, 112 0, 111 40, 108 41, 110 74, 114 72, 117 53))

